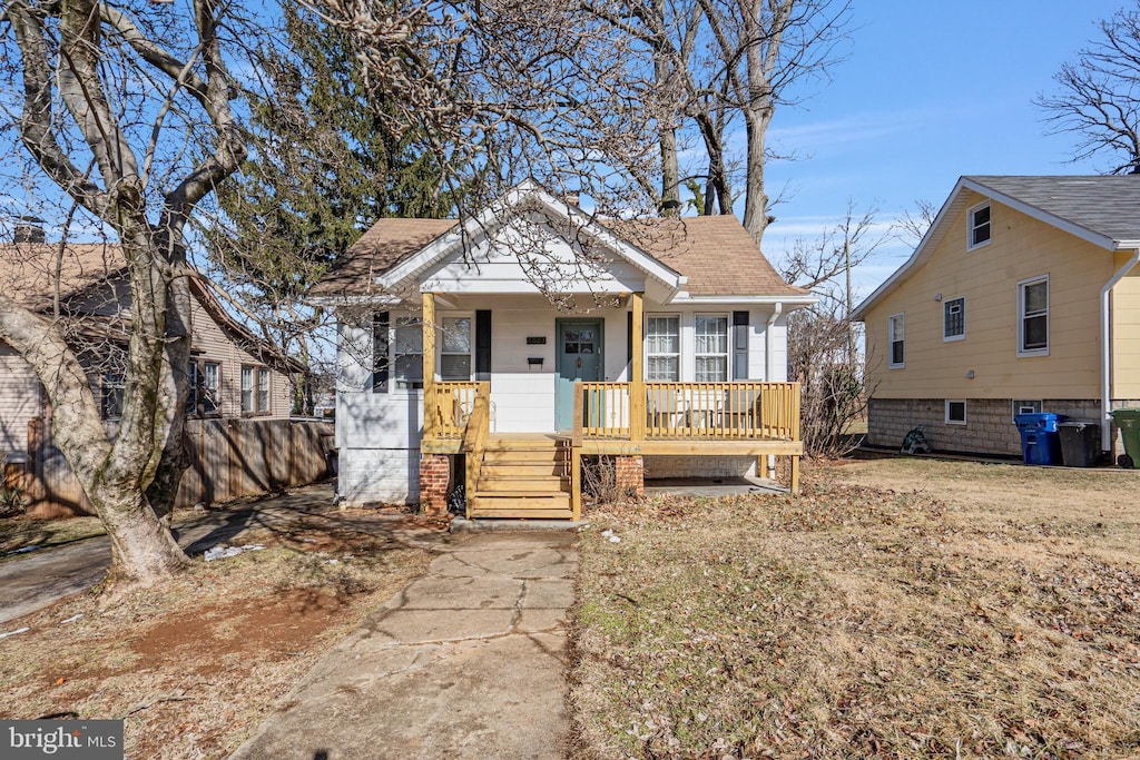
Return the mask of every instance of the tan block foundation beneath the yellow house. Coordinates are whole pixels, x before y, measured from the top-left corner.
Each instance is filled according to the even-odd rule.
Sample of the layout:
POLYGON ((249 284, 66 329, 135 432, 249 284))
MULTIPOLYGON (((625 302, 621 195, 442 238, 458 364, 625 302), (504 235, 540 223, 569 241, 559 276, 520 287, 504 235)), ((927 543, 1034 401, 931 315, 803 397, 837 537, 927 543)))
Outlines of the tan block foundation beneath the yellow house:
MULTIPOLYGON (((946 424, 944 399, 877 399, 868 406, 868 435, 871 446, 897 449, 903 438, 918 425, 926 426, 926 439, 938 451, 1021 456, 1021 435, 1013 424, 1011 399, 967 399, 966 424, 946 424)), ((1134 402, 1115 401, 1113 408, 1134 402)), ((1100 419, 1100 401, 1090 399, 1044 399, 1041 408, 1073 419, 1100 419)), ((1119 436, 1113 430, 1116 451, 1119 436)))

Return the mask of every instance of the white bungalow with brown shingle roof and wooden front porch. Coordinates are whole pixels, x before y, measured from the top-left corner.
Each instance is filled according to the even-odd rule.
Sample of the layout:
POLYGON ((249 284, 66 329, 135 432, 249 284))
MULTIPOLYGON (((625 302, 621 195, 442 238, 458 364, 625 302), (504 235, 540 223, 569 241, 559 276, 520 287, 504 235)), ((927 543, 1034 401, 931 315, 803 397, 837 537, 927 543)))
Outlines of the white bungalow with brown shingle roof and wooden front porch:
POLYGON ((785 320, 814 297, 734 216, 600 220, 524 182, 463 223, 378 221, 311 295, 348 504, 464 485, 469 516, 572 517, 583 456, 634 491, 790 456, 797 487, 785 320))

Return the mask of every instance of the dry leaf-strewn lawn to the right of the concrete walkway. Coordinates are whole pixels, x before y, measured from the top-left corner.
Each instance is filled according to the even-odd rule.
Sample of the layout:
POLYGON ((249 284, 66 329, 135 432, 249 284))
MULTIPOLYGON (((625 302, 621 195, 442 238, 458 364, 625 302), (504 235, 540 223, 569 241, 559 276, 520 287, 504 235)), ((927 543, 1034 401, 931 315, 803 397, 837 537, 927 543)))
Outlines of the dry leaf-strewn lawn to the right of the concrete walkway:
POLYGON ((799 499, 595 513, 575 755, 1138 757, 1138 493, 882 459, 808 466, 799 499))

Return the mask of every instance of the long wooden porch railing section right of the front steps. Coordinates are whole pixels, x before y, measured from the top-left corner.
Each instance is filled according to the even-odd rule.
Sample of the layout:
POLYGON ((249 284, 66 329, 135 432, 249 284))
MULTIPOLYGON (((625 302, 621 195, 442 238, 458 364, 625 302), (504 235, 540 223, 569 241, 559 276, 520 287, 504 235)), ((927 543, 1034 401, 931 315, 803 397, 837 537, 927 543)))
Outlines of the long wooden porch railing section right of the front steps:
MULTIPOLYGON (((579 383, 576 427, 585 439, 798 441, 799 383, 645 383, 635 404, 629 383, 579 383), (630 428, 634 406, 644 425, 630 428)), ((635 423, 638 420, 634 420, 635 423)))

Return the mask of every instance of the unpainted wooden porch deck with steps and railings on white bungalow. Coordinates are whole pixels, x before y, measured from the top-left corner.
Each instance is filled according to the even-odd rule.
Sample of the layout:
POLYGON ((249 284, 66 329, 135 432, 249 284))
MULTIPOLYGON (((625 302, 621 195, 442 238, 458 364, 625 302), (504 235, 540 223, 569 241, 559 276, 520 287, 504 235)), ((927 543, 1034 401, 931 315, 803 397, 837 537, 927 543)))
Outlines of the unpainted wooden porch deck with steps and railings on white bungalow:
POLYGON ((577 520, 584 456, 787 456, 799 493, 797 383, 578 383, 573 427, 490 433, 490 384, 432 383, 425 453, 463 453, 467 517, 577 520))

